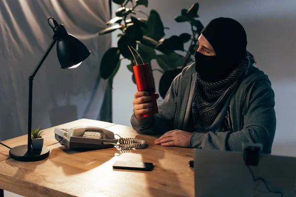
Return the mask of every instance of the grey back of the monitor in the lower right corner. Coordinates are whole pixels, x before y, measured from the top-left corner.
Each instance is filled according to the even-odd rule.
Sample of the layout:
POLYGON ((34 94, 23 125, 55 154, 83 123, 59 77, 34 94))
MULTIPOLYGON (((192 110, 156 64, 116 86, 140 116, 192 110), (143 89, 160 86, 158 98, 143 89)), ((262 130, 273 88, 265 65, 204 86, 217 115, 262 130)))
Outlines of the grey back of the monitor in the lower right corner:
MULTIPOLYGON (((250 168, 270 190, 295 197, 296 158, 260 154, 259 165, 250 168)), ((194 185, 195 197, 281 197, 254 182, 242 152, 194 149, 194 185)))

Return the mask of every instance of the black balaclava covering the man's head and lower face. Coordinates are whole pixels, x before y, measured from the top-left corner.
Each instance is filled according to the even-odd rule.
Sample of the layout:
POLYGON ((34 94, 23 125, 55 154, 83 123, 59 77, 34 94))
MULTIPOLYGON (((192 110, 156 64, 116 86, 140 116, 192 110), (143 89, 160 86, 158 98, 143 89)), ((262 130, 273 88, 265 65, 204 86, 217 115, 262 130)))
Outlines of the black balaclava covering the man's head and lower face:
POLYGON ((195 51, 195 69, 204 81, 221 81, 246 56, 246 32, 236 20, 220 17, 213 19, 201 33, 214 48, 216 56, 195 51))

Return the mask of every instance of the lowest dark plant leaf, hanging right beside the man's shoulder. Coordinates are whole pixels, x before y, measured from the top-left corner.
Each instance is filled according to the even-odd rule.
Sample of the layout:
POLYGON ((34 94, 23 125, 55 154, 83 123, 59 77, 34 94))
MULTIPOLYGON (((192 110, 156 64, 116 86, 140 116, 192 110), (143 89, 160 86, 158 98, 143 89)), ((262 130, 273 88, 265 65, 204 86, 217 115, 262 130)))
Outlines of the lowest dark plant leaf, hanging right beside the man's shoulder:
POLYGON ((182 69, 166 71, 159 81, 159 95, 164 99, 175 77, 182 72, 182 69))

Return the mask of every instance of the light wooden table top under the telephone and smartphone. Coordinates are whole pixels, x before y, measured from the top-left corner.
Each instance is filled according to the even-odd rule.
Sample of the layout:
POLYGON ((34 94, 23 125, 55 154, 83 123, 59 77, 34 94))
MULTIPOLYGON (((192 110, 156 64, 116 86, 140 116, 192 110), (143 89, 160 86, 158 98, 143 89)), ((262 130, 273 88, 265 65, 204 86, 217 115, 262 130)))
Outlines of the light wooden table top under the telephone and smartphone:
MULTIPOLYGON (((54 128, 44 132, 49 157, 37 162, 9 158, 0 145, 0 188, 22 196, 194 196, 194 171, 188 160, 193 149, 154 145, 157 136, 139 135, 130 127, 81 119, 57 127, 95 126, 107 128, 121 137, 144 139, 148 148, 119 152, 116 148, 74 151, 57 142, 54 128), (53 144, 53 145, 51 145, 53 144), (152 171, 113 170, 115 161, 142 161, 154 164, 152 171)), ((3 141, 14 147, 27 143, 27 135, 3 141)))

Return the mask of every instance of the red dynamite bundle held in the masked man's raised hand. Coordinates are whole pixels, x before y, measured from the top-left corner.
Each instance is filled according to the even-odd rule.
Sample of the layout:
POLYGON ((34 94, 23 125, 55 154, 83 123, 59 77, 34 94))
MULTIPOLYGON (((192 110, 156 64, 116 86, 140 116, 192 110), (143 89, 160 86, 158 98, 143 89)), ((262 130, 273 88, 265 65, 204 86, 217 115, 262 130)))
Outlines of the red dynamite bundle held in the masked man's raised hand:
POLYGON ((157 114, 158 107, 155 97, 155 88, 153 85, 149 64, 133 66, 133 70, 138 91, 148 92, 149 96, 152 98, 152 110, 146 114, 143 114, 143 117, 146 118, 152 116, 153 114, 157 114))

